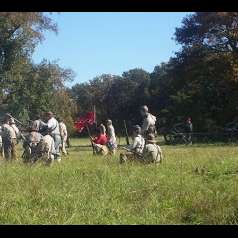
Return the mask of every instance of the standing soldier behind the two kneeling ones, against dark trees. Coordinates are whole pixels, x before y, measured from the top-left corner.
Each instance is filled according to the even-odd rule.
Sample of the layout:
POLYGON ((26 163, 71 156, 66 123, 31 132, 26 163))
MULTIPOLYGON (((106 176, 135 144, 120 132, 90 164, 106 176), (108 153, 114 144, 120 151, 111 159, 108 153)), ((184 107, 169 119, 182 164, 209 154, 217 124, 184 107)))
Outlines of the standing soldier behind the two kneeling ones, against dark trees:
POLYGON ((143 124, 141 128, 142 136, 146 137, 146 135, 148 134, 148 130, 150 130, 150 133, 153 131, 156 136, 157 135, 155 128, 156 117, 153 116, 151 113, 149 113, 149 109, 146 105, 141 107, 140 113, 141 116, 143 117, 143 124))

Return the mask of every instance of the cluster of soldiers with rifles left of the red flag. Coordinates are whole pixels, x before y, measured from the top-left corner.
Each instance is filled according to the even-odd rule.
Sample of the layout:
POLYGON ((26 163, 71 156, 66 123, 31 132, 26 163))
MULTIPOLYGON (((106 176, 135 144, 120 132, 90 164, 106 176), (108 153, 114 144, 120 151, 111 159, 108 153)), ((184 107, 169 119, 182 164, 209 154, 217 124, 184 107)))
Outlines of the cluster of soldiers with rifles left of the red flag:
POLYGON ((6 160, 17 159, 16 145, 23 141, 23 159, 35 162, 46 156, 48 162, 61 161, 61 152, 67 154, 67 128, 61 118, 55 118, 52 112, 45 113, 44 120, 37 115, 25 128, 25 134, 18 129, 14 118, 6 114, 0 127, 1 154, 6 160), (58 120, 57 120, 58 119, 58 120))

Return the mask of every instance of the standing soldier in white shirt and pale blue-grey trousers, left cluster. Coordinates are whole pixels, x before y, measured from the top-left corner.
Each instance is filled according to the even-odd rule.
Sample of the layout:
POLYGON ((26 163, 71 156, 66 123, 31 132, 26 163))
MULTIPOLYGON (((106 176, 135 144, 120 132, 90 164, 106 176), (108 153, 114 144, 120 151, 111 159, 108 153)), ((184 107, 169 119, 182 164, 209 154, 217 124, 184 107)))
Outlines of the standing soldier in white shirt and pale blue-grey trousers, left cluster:
POLYGON ((54 139, 55 151, 56 151, 55 159, 57 159, 57 161, 59 162, 61 160, 60 158, 61 137, 60 137, 59 123, 54 118, 54 115, 52 112, 47 112, 46 118, 47 118, 48 132, 54 139))

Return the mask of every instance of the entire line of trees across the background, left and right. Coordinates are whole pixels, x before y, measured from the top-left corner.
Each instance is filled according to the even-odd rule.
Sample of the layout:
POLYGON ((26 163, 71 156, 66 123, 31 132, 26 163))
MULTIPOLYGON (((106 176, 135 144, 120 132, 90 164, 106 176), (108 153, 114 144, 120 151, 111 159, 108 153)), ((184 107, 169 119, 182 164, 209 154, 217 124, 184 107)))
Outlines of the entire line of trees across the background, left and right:
POLYGON ((0 13, 0 112, 19 119, 51 110, 73 121, 95 105, 98 122, 113 120, 122 132, 140 124, 139 107, 149 106, 158 126, 191 117, 194 130, 211 131, 237 119, 238 13, 194 13, 175 29, 181 45, 168 62, 153 72, 132 69, 122 75, 103 74, 66 88, 74 73, 55 62, 32 62, 44 31, 57 26, 43 13, 0 13))

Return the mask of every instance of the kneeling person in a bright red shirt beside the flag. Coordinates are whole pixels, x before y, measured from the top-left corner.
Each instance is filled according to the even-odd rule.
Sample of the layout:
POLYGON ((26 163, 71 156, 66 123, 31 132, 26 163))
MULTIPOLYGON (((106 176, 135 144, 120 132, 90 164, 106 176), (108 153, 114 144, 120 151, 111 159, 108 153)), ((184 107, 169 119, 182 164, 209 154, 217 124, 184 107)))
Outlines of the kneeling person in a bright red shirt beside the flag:
POLYGON ((96 151, 96 154, 100 154, 100 155, 108 154, 108 148, 107 148, 108 139, 106 134, 102 133, 101 128, 97 130, 96 137, 91 138, 91 140, 93 142, 93 147, 96 151))

